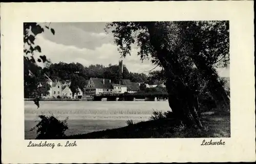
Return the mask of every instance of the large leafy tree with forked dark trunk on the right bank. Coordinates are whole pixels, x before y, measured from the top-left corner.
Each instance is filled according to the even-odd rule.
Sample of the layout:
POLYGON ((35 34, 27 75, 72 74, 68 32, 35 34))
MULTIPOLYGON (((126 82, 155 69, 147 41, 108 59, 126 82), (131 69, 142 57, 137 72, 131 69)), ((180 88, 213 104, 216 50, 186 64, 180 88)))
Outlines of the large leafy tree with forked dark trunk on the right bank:
POLYGON ((195 80, 204 80, 216 104, 229 99, 219 83, 214 65, 229 61, 228 21, 111 22, 111 30, 121 56, 131 55, 131 46, 139 47, 141 60, 151 57, 164 69, 169 106, 186 125, 202 127, 195 80), (171 100, 171 101, 170 101, 171 100))

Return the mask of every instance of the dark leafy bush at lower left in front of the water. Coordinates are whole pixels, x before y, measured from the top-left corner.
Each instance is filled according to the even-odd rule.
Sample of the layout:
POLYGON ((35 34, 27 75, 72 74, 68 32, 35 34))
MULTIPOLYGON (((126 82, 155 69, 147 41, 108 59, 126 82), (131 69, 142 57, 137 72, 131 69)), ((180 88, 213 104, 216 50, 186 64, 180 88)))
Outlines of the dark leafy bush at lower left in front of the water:
POLYGON ((63 121, 58 120, 53 115, 39 115, 38 117, 41 119, 41 121, 39 121, 39 123, 31 129, 31 131, 37 129, 36 139, 62 139, 66 136, 65 131, 68 129, 68 117, 63 121))

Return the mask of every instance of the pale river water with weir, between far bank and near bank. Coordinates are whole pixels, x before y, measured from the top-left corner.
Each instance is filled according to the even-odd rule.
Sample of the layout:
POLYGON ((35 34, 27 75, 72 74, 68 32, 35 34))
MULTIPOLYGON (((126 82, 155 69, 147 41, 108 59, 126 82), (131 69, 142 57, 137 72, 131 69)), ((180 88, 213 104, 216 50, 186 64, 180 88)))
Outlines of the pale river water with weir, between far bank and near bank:
POLYGON ((38 109, 33 101, 25 101, 25 139, 35 139, 36 131, 30 129, 38 115, 69 117, 70 135, 126 126, 126 120, 146 121, 154 111, 168 110, 167 101, 40 101, 38 109))

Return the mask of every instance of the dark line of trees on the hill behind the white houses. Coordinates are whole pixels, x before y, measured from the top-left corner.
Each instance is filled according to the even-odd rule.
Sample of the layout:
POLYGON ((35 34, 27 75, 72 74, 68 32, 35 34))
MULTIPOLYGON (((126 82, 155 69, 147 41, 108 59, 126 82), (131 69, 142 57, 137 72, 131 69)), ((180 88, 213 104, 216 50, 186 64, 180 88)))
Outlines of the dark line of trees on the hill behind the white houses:
POLYGON ((53 81, 60 81, 65 83, 67 80, 71 82, 70 89, 73 93, 78 92, 78 88, 84 91, 87 80, 91 77, 108 78, 112 83, 118 84, 120 78, 130 79, 132 82, 137 83, 150 83, 157 84, 158 80, 144 73, 129 72, 126 66, 123 66, 123 73, 120 77, 119 66, 109 65, 105 67, 100 64, 83 66, 80 63, 51 63, 49 60, 45 62, 44 68, 37 66, 24 58, 24 89, 25 97, 37 97, 47 95, 50 89, 46 83, 47 78, 45 74, 53 81))

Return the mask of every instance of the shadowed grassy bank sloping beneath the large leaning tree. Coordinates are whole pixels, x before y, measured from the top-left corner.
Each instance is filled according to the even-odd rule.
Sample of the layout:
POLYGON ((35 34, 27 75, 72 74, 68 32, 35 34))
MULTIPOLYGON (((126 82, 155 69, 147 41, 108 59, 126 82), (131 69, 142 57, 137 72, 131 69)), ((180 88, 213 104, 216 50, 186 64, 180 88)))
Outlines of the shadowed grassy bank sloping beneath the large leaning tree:
POLYGON ((131 139, 131 138, 229 138, 230 115, 202 114, 204 131, 180 126, 175 119, 139 122, 129 126, 66 136, 65 139, 131 139))

